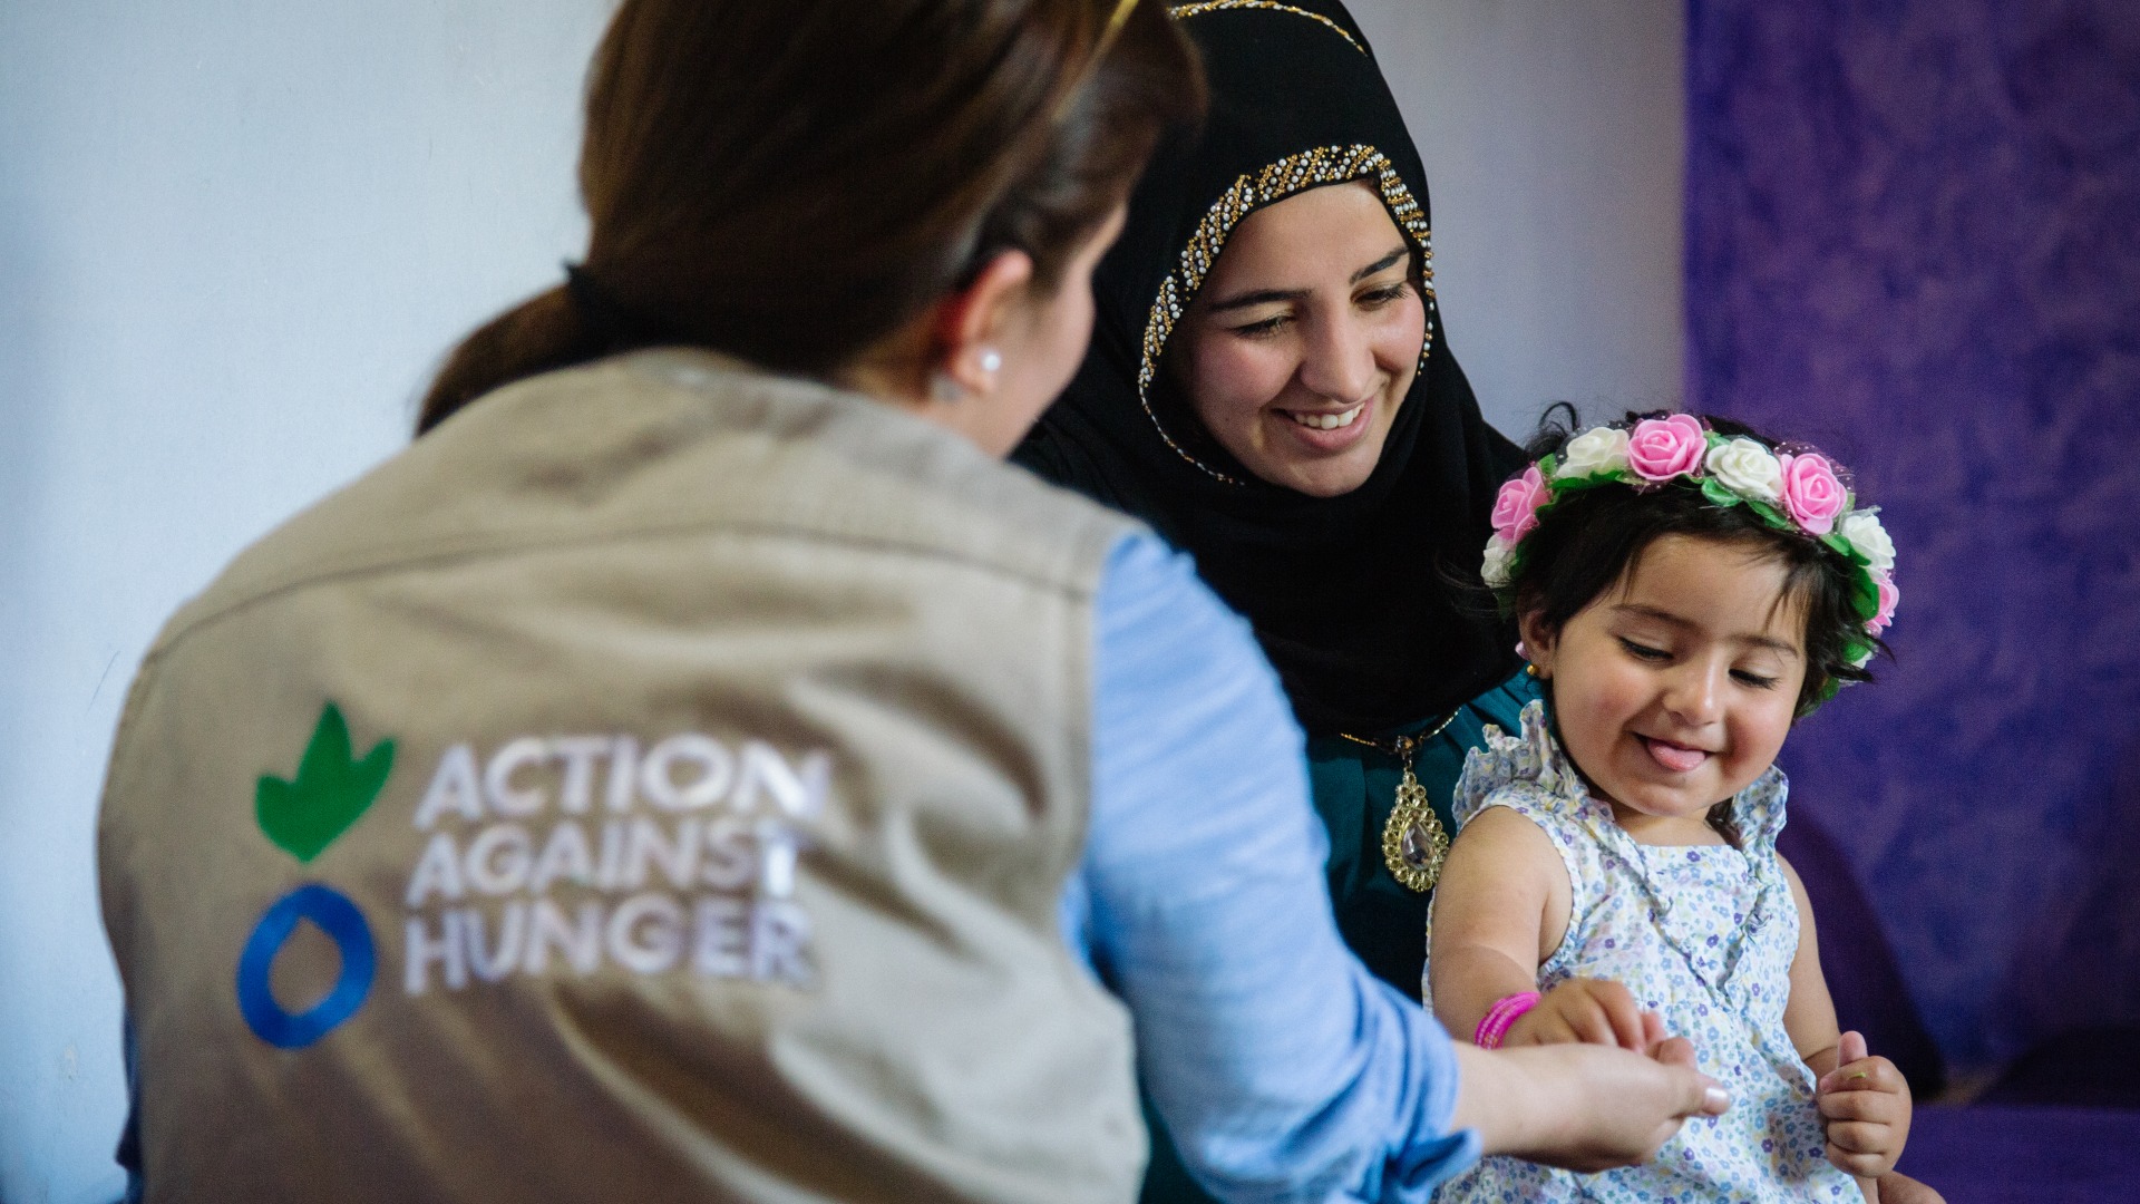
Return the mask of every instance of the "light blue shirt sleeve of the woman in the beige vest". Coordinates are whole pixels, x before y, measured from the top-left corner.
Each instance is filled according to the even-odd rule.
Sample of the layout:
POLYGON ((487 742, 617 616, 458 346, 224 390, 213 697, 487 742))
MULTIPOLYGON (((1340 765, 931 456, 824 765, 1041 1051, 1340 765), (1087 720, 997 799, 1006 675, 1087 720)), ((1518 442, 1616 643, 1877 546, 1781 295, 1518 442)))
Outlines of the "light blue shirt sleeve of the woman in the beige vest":
MULTIPOLYGON (((1303 737, 1254 636, 1153 536, 1100 585, 1094 797, 1064 938, 1128 1003, 1145 1088, 1220 1200, 1427 1200, 1449 1035, 1338 938, 1303 737)), ((1425 938, 1425 934, 1421 934, 1425 938)))

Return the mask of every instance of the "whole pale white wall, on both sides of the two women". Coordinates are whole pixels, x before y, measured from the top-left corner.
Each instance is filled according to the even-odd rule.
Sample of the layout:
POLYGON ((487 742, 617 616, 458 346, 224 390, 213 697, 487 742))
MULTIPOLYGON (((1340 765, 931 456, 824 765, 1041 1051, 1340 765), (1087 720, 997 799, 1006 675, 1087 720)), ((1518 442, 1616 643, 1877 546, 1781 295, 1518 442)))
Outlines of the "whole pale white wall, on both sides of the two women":
MULTIPOLYGON (((556 279, 608 0, 0 0, 0 1200, 118 1189, 94 893, 163 617, 394 452, 437 356, 556 279)), ((1361 0, 1434 174, 1466 368, 1678 396, 1676 0, 1361 0)))

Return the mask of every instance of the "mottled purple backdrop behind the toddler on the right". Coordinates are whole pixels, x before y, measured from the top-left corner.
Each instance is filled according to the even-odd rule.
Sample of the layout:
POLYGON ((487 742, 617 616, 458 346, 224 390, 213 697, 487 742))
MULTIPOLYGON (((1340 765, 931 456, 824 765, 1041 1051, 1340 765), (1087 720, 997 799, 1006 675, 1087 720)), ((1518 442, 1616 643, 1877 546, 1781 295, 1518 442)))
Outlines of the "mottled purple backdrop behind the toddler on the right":
POLYGON ((1691 0, 1686 75, 1688 407, 1900 548, 1791 803, 1958 1069, 2140 1026, 2140 4, 1691 0))

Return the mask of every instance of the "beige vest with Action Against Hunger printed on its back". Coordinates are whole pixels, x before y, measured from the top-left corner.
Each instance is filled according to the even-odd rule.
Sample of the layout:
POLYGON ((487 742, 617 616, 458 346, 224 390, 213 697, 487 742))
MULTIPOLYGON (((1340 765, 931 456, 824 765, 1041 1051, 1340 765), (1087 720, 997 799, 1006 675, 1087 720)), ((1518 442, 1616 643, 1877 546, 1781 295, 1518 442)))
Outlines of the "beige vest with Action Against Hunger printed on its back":
POLYGON ((150 1200, 1132 1200, 1057 934, 1128 529, 646 351, 268 536, 105 793, 150 1200))

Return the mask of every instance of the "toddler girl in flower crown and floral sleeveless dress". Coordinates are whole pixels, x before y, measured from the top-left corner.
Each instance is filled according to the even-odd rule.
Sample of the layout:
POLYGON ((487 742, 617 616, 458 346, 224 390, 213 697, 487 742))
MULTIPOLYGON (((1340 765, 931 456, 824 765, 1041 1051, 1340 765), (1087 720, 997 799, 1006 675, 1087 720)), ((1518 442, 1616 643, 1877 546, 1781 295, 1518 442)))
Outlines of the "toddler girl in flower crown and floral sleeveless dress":
POLYGON ((1485 581, 1547 701, 1519 735, 1487 728, 1457 782, 1434 1011, 1481 1045, 1676 1033, 1733 1105, 1648 1165, 1496 1157, 1440 1200, 1879 1200, 1909 1086, 1836 1033, 1776 855, 1776 750, 1868 677, 1894 613, 1875 510, 1808 448, 1676 413, 1564 441, 1502 486, 1494 527, 1485 581))

